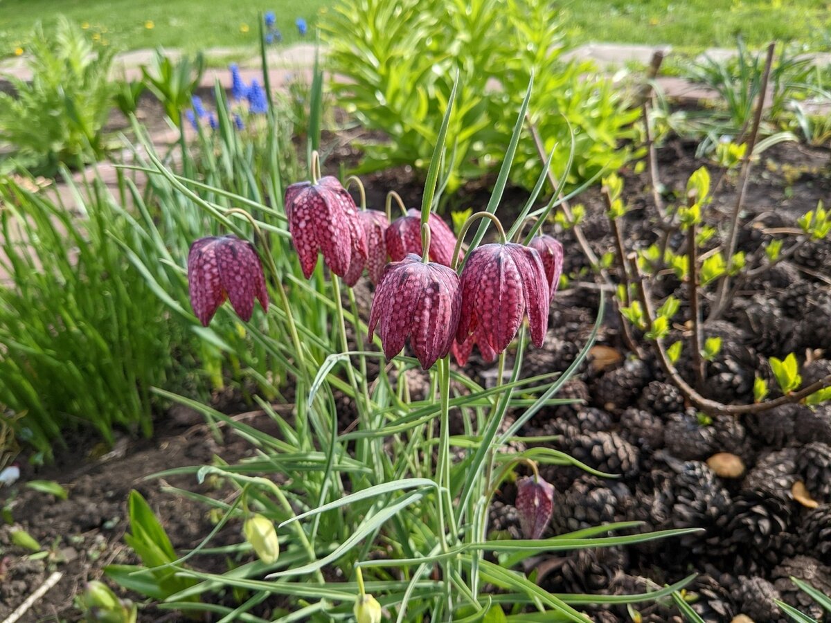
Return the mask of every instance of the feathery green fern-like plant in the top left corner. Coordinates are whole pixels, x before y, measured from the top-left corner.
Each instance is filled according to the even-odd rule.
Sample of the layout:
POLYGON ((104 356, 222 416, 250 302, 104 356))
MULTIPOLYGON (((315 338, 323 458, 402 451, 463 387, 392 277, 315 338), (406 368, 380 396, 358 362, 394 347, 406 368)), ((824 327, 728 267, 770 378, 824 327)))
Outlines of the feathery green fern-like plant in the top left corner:
POLYGON ((90 162, 104 147, 114 51, 93 47, 65 17, 53 32, 38 24, 29 50, 31 83, 8 76, 17 93, 0 93, 0 144, 17 151, 15 164, 39 173, 90 162))

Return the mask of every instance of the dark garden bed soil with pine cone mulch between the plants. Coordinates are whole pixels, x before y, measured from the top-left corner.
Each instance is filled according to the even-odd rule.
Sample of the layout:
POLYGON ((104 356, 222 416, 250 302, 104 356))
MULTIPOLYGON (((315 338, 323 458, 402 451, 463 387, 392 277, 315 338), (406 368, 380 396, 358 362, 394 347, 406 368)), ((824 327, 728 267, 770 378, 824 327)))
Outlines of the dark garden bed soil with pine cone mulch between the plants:
MULTIPOLYGON (((687 179, 702 164, 717 170, 711 163, 697 161, 694 151, 695 145, 678 140, 659 150, 667 199, 683 197, 687 179)), ((345 147, 335 154, 336 159, 352 156, 345 147)), ((828 198, 829 162, 827 150, 793 143, 766 151, 754 169, 745 201, 748 218, 759 217, 759 228, 749 229, 758 232, 758 238, 750 235, 740 239, 740 248, 752 252, 767 235, 765 228, 793 227, 795 218, 815 208, 819 199, 828 198)), ((649 240, 652 194, 648 173, 628 170, 622 175, 624 196, 632 206, 625 219, 624 235, 627 242, 649 240)), ((713 178, 717 179, 718 174, 713 178)), ((407 204, 416 205, 420 198, 421 185, 409 169, 373 174, 365 181, 371 206, 380 206, 391 189, 396 189, 407 204)), ((727 179, 725 184, 726 192, 713 207, 728 213, 735 201, 735 181, 727 179)), ((478 208, 488 196, 486 189, 467 188, 452 199, 452 204, 478 208)), ((509 189, 498 214, 510 221, 526 196, 509 189)), ((587 206, 583 230, 595 252, 611 250, 613 241, 599 191, 590 190, 575 199, 577 202, 587 206)), ((566 272, 578 272, 585 266, 582 256, 569 233, 561 239, 566 246, 566 272)), ((543 349, 529 351, 524 376, 564 370, 577 356, 597 314, 597 288, 585 285, 592 281, 591 274, 585 273, 558 293, 546 344, 543 349)), ((829 283, 829 243, 809 244, 804 253, 781 262, 759 282, 747 283, 736 297, 735 312, 711 329, 711 334, 723 339, 719 356, 708 365, 711 393, 725 403, 752 401, 755 375, 770 375, 765 371, 764 358, 784 357, 792 351, 800 357, 809 353, 809 363, 803 370, 806 384, 814 376, 829 374, 829 283)), ((669 292, 663 291, 671 291, 673 284, 665 279, 651 287, 666 294, 669 292)), ((368 300, 362 303, 366 307, 368 300)), ((831 407, 812 411, 804 406, 788 406, 740 419, 716 416, 705 421, 666 383, 652 356, 643 361, 627 357, 617 317, 610 309, 607 306, 588 363, 560 394, 581 398, 585 404, 543 410, 522 434, 561 435, 551 444, 553 447, 566 450, 593 468, 621 473, 622 478, 602 480, 575 468, 545 468, 543 476, 558 491, 552 525, 545 536, 633 519, 646 522, 649 529, 703 527, 706 532, 687 535, 680 543, 666 540, 625 549, 537 557, 529 561, 529 571, 536 568, 538 582, 554 593, 616 594, 649 591, 694 571, 701 575, 689 589, 691 601, 706 621, 730 621, 740 613, 756 623, 784 620, 772 605, 776 591, 784 601, 821 617, 810 610, 809 603, 800 601, 804 596, 788 577, 802 577, 831 591, 831 407), (735 478, 715 476, 705 461, 718 453, 738 457, 744 472, 735 478), (801 503, 794 498, 792 487, 798 480, 805 483, 817 508, 809 508, 804 498, 801 503)), ((676 327, 679 335, 684 329, 676 327)), ((484 384, 490 368, 474 359, 465 371, 484 384)), ((225 405, 224 410, 238 412, 240 408, 225 405)), ((177 551, 195 547, 204 538, 213 527, 206 508, 160 492, 157 482, 142 478, 166 468, 209 464, 214 454, 234 462, 253 454, 253 450, 236 437, 217 441, 193 416, 184 410, 165 414, 157 422, 155 439, 122 439, 115 454, 99 459, 91 458, 96 447, 79 439, 71 444, 71 452, 59 454, 55 465, 24 468, 15 488, 0 490, 14 520, 52 552, 46 559, 27 560, 22 549, 9 545, 9 533, 3 528, 0 545, 7 555, 0 570, 0 618, 57 570, 63 573, 61 581, 32 606, 22 621, 50 616, 72 620, 78 616, 72 606, 73 596, 86 581, 100 577, 101 568, 111 562, 135 562, 122 540, 130 488, 138 488, 158 510, 177 551), (20 486, 32 478, 57 480, 69 498, 57 501, 20 486)), ((348 422, 351 417, 342 414, 340 419, 348 422)), ((248 424, 259 426, 265 421, 255 417, 248 424)), ((209 492, 209 481, 195 489, 193 478, 169 478, 166 482, 209 492)), ((512 506, 514 494, 510 484, 501 490, 491 510, 490 527, 519 537, 512 506)), ((217 492, 213 495, 216 497, 217 492)), ((239 538, 238 525, 232 522, 211 545, 238 542, 239 538)), ((203 557, 190 563, 224 571, 221 557, 203 557)), ((231 596, 224 599, 230 603, 231 596)), ((274 606, 273 601, 265 601, 254 612, 268 616, 274 606)), ((676 616, 666 604, 637 607, 644 621, 670 621, 676 616)), ((594 615, 597 621, 629 620, 625 606, 594 615)), ((142 620, 178 620, 178 615, 160 611, 142 611, 141 616, 142 620)))

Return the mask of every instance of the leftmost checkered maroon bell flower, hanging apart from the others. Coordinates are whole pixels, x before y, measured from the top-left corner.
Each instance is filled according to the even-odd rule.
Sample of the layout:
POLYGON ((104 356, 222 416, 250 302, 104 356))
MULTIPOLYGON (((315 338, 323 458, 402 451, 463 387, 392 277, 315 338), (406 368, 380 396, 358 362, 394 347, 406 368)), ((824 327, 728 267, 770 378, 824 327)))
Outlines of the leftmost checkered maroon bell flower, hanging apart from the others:
POLYGON ((251 320, 256 298, 268 312, 263 265, 253 244, 236 236, 209 236, 190 245, 188 253, 190 305, 208 326, 225 299, 244 321, 251 320))

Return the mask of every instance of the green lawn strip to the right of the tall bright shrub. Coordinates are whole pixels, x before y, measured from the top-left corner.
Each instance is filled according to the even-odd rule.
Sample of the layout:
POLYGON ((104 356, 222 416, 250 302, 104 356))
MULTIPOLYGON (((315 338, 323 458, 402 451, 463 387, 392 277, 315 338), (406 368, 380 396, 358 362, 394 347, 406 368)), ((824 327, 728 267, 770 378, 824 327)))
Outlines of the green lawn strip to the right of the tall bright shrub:
POLYGON ((827 0, 565 0, 556 2, 576 42, 669 43, 681 51, 770 41, 831 49, 827 0))

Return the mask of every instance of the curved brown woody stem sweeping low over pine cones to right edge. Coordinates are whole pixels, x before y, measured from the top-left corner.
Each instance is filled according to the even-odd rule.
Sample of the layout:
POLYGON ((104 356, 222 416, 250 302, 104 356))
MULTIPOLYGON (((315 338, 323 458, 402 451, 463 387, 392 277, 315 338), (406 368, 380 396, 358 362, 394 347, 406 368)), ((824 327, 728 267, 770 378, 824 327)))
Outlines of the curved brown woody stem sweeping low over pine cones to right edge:
MULTIPOLYGON (((637 266, 637 256, 634 253, 632 253, 628 256, 627 259, 629 261, 630 267, 632 268, 632 279, 635 282, 638 297, 640 298, 641 305, 643 306, 644 323, 647 325, 647 330, 651 330, 652 319, 654 318, 654 313, 652 311, 652 302, 647 293, 647 287, 644 284, 643 274, 640 268, 638 268, 637 266)), ((780 396, 775 400, 765 400, 765 402, 755 403, 753 405, 724 405, 718 402, 717 400, 710 400, 709 398, 705 398, 696 390, 694 390, 686 382, 686 380, 684 380, 681 377, 681 375, 678 373, 678 370, 676 370, 676 367, 672 365, 669 356, 666 355, 666 348, 664 347, 663 340, 659 338, 655 340, 653 343, 655 344, 655 351, 658 356, 658 363, 661 365, 661 369, 664 370, 664 373, 669 377, 672 383, 676 385, 678 390, 681 391, 681 394, 683 394, 684 397, 687 400, 689 400, 692 405, 710 414, 745 415, 761 413, 763 411, 775 409, 776 407, 782 405, 789 405, 790 403, 799 402, 799 400, 803 400, 804 398, 807 398, 809 395, 831 386, 831 375, 827 375, 823 379, 820 379, 815 383, 812 383, 811 385, 805 387, 802 390, 794 392, 793 394, 780 396)))

